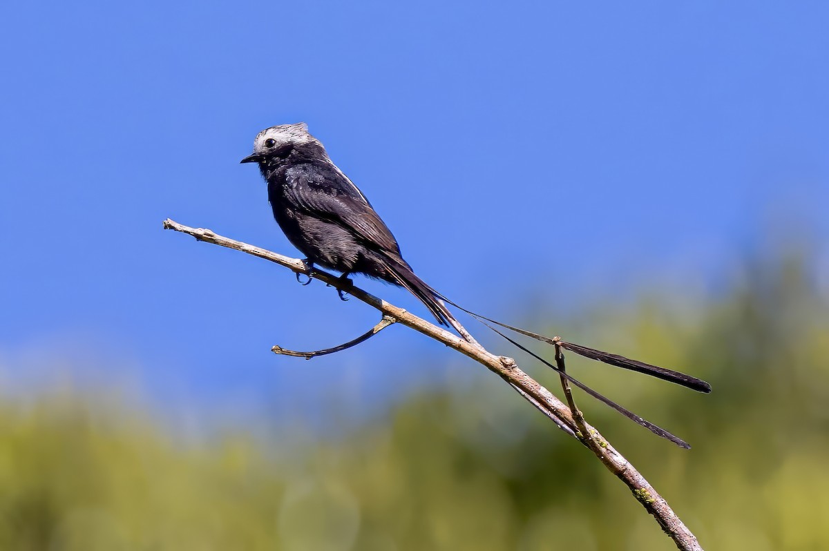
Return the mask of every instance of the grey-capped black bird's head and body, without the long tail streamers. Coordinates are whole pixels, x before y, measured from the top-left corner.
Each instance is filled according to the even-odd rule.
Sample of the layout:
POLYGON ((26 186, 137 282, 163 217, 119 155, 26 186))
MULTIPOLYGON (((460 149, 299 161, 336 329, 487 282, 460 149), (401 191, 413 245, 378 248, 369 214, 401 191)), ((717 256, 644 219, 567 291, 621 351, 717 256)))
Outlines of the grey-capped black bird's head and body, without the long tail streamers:
POLYGON ((403 259, 395 236, 366 196, 304 123, 266 128, 242 162, 259 163, 274 218, 308 262, 407 288, 441 324, 453 319, 403 259))

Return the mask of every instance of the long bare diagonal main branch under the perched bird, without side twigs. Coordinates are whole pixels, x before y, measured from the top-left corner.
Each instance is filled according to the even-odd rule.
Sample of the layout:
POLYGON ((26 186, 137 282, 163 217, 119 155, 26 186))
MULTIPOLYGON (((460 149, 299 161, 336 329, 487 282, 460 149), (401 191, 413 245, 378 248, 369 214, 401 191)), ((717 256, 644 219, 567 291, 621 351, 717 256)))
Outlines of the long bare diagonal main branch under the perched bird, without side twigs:
MULTIPOLYGON (((300 259, 291 259, 282 254, 272 253, 269 250, 259 249, 250 244, 241 243, 234 239, 228 239, 218 234, 214 234, 211 230, 204 230, 201 228, 191 228, 186 225, 178 224, 173 220, 164 220, 164 228, 166 230, 176 230, 185 234, 190 234, 200 241, 207 243, 221 245, 230 249, 240 250, 247 254, 253 254, 261 259, 270 260, 278 263, 285 268, 292 270, 294 273, 307 273, 307 266, 300 259)), ((366 302, 371 307, 383 313, 384 316, 389 316, 395 319, 402 325, 414 329, 419 333, 429 336, 435 341, 444 343, 444 345, 458 350, 463 355, 472 358, 479 364, 485 366, 496 375, 506 380, 513 389, 521 394, 533 406, 540 409, 542 413, 549 418, 556 420, 556 424, 561 428, 565 428, 568 433, 573 433, 585 447, 591 452, 594 452, 596 457, 611 471, 619 480, 623 481, 626 486, 633 492, 633 495, 645 507, 648 513, 653 515, 657 523, 662 527, 662 530, 673 540, 677 549, 701 551, 700 544, 696 541, 696 537, 687 529, 686 525, 682 523, 679 517, 671 510, 667 501, 653 489, 653 486, 648 483, 645 478, 633 467, 633 465, 625 459, 621 453, 610 445, 610 443, 602 437, 599 432, 591 427, 584 419, 580 419, 577 423, 573 414, 565 404, 559 399, 555 398, 550 391, 545 389, 541 384, 538 384, 535 379, 526 375, 516 365, 515 360, 507 358, 506 356, 494 355, 485 350, 474 339, 468 335, 467 331, 459 331, 463 335, 468 336, 468 340, 459 338, 452 333, 425 321, 403 308, 395 307, 389 302, 385 302, 381 298, 375 297, 368 292, 357 288, 351 283, 343 282, 337 276, 331 273, 323 272, 322 270, 314 269, 312 272, 313 278, 317 278, 332 287, 341 289, 356 297, 362 302, 366 302), (580 426, 579 426, 580 425, 580 426), (579 433, 584 437, 579 437, 579 433), (591 445, 591 441, 597 442, 597 445, 591 445)), ((366 337, 368 338, 368 337, 366 337)), ((553 343, 557 344, 557 343, 553 343)), ((563 373, 563 372, 562 372, 563 373)))

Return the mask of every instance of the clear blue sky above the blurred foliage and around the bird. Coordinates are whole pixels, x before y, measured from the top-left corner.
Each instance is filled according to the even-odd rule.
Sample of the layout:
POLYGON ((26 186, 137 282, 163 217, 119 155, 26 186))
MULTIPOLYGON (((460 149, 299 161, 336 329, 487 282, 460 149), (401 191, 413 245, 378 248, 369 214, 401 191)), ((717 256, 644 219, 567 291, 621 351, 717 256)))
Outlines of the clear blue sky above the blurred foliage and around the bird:
POLYGON ((308 123, 424 280, 506 317, 553 285, 551 307, 715 280, 768 220, 829 234, 823 2, 10 4, 6 378, 90 363, 232 409, 317 399, 298 371, 359 398, 368 378, 417 379, 410 356, 447 360, 397 327, 336 357, 276 358, 376 314, 162 231, 170 217, 296 255, 239 164, 274 124, 308 123))

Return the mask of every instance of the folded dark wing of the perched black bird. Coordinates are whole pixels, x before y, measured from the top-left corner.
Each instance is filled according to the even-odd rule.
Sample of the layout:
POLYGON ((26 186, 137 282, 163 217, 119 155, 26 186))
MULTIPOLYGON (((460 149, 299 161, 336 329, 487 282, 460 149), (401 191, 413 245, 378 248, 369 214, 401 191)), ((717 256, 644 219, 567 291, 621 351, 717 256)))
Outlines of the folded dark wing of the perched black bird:
POLYGON ((400 254, 395 236, 366 197, 337 167, 330 167, 329 170, 320 170, 321 167, 289 170, 284 193, 309 214, 345 228, 370 249, 400 254))

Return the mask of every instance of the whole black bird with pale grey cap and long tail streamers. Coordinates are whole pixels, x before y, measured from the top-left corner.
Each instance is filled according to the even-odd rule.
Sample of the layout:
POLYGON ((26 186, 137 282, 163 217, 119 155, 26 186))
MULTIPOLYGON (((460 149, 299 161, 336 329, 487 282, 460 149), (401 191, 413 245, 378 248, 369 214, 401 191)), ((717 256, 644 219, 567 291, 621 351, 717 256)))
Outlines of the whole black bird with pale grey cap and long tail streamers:
POLYGON ((255 162, 259 165, 259 172, 268 184, 268 200, 274 211, 274 219, 288 241, 307 257, 305 263, 310 267, 317 264, 336 270, 342 273, 343 279, 351 273, 362 273, 369 278, 406 288, 424 303, 441 325, 451 325, 462 335, 468 336, 446 307, 444 302, 448 302, 482 321, 512 345, 541 360, 562 377, 635 423, 678 446, 690 447, 680 438, 580 383, 563 368, 521 346, 489 323, 556 346, 556 350, 570 350, 592 360, 638 371, 698 392, 709 393, 710 384, 679 371, 577 345, 560 337, 551 339, 482 316, 452 302, 414 273, 409 263, 403 259, 400 245, 389 227, 362 191, 328 157, 322 143, 308 133, 307 124, 283 124, 265 128, 256 135, 253 152, 241 162, 255 162))

